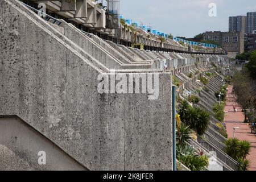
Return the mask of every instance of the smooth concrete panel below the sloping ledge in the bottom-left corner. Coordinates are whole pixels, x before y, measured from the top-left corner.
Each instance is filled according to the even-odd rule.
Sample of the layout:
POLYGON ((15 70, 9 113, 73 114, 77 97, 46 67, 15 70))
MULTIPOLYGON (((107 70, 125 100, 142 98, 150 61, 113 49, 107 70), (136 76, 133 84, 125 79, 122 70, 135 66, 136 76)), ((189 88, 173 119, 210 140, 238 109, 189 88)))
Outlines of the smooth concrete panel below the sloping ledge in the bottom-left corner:
POLYGON ((86 170, 18 117, 0 117, 0 133, 0 170, 86 170))

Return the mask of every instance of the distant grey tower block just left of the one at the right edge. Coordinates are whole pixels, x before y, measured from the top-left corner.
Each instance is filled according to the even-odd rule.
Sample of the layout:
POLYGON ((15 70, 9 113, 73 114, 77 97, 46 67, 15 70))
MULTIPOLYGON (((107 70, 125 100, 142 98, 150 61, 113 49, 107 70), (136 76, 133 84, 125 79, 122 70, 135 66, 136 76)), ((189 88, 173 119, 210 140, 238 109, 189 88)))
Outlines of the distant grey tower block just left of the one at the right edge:
POLYGON ((229 31, 246 33, 246 16, 230 16, 229 17, 229 31))

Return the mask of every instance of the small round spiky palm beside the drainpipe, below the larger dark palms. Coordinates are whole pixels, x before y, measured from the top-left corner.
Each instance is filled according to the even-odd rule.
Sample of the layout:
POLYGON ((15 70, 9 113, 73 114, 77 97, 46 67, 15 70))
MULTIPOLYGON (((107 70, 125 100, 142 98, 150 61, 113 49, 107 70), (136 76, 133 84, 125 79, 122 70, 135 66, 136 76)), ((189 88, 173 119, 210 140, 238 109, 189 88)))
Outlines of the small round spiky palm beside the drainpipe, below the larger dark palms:
POLYGON ((185 142, 189 142, 192 139, 191 137, 192 131, 189 129, 189 126, 185 125, 185 123, 181 123, 181 125, 177 125, 177 133, 176 139, 178 145, 184 145, 185 142))

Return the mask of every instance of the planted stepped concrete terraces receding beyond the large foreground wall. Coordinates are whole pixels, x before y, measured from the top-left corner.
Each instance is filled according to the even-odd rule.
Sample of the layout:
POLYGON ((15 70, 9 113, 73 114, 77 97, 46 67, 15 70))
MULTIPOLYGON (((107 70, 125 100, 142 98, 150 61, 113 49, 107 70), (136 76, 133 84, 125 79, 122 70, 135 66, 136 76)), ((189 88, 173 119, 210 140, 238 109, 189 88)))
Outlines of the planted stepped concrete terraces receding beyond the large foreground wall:
MULTIPOLYGON (((206 63, 201 63, 201 62, 193 62, 196 64, 196 67, 193 67, 188 64, 189 61, 189 56, 179 54, 177 55, 179 59, 177 60, 177 63, 175 63, 174 60, 174 69, 176 65, 176 70, 179 72, 179 74, 176 74, 176 78, 183 83, 182 86, 180 86, 179 90, 184 90, 184 89, 189 89, 189 87, 192 87, 190 89, 191 91, 195 91, 197 89, 203 89, 205 85, 201 84, 200 82, 197 82, 197 78, 199 75, 205 75, 206 72, 213 72, 213 69, 215 69, 212 65, 206 63), (191 69, 192 68, 192 69, 191 69), (194 75, 192 78, 188 77, 188 72, 187 71, 192 71, 192 72, 199 72, 196 75, 194 75)), ((199 58, 201 61, 202 60, 207 60, 207 56, 203 56, 203 58, 200 56, 199 58)), ((220 61, 221 59, 213 59, 214 61, 220 61)), ((222 86, 222 80, 220 80, 220 76, 216 76, 213 78, 208 78, 209 79, 209 85, 212 89, 218 90, 222 86), (214 86, 212 86, 212 82, 216 83, 214 86)), ((204 92, 205 93, 205 92, 204 92)), ((204 98, 201 98, 201 107, 203 109, 207 109, 211 114, 212 112, 212 106, 217 102, 216 97, 214 96, 214 92, 211 93, 206 93, 208 94, 208 97, 210 98, 211 102, 208 102, 208 100, 204 100, 204 98)), ((225 144, 224 142, 226 141, 226 138, 224 138, 220 133, 218 133, 219 127, 216 125, 216 123, 220 123, 216 121, 215 118, 211 117, 209 127, 207 129, 207 132, 203 135, 203 140, 199 139, 199 142, 202 143, 205 147, 210 148, 213 151, 216 151, 217 157, 222 159, 222 163, 230 163, 232 166, 232 170, 237 169, 237 162, 231 159, 228 155, 225 154, 224 148, 225 144)))

